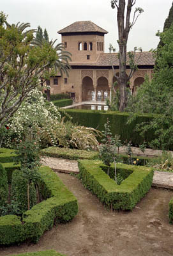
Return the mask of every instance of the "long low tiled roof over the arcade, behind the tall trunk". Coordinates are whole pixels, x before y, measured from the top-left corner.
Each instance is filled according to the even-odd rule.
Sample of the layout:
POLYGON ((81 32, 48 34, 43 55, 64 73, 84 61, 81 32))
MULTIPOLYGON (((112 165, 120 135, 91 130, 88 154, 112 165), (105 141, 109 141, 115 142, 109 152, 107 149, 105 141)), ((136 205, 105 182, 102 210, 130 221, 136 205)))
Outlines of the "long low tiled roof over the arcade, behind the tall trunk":
MULTIPOLYGON (((155 58, 152 52, 136 52, 135 55, 135 64, 138 66, 153 66, 155 64, 155 58)), ((101 53, 98 56, 96 62, 71 62, 71 66, 119 66, 119 59, 117 53, 101 53)), ((128 56, 127 56, 127 65, 128 65, 128 56)))

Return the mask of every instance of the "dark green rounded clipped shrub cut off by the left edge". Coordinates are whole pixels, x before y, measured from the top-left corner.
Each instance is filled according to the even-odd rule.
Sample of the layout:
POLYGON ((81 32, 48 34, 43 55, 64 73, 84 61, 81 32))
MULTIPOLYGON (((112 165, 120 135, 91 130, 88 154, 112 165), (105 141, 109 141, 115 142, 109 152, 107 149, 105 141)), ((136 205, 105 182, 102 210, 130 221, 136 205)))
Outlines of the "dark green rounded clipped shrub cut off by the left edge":
POLYGON ((0 207, 3 206, 8 198, 8 182, 6 170, 0 163, 0 207))

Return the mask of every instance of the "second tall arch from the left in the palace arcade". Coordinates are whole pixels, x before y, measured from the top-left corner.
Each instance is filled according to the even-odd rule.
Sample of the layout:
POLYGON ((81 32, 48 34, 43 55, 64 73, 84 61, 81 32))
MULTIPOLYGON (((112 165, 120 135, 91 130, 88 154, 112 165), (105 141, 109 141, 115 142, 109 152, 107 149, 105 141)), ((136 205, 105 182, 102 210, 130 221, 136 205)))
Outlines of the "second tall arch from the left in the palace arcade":
POLYGON ((109 83, 106 77, 99 77, 96 86, 96 100, 106 100, 110 95, 109 83))

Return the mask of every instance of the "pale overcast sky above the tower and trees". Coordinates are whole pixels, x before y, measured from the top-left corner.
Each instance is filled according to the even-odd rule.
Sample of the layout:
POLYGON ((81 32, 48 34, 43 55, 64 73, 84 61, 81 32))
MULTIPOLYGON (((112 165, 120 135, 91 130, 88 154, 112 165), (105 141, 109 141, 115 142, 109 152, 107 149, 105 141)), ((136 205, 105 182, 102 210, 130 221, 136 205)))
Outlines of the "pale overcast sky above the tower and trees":
MULTIPOLYGON (((165 19, 169 15, 172 0, 137 0, 134 7, 141 7, 135 26, 130 31, 128 51, 133 47, 142 47, 142 51, 156 48, 159 39, 155 36, 163 30, 165 19)), ((105 52, 109 52, 111 43, 117 46, 116 9, 110 6, 110 0, 0 0, 0 10, 8 14, 8 22, 29 22, 31 28, 39 25, 47 29, 50 39, 61 42, 57 31, 75 21, 91 20, 98 26, 109 31, 105 35, 105 52)))

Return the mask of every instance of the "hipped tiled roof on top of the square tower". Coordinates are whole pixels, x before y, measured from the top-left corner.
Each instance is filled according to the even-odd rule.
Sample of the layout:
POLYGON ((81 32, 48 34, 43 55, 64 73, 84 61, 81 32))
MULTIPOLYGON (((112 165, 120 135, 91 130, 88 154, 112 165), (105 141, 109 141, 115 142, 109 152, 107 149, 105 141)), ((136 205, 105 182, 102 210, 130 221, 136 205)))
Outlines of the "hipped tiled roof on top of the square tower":
POLYGON ((87 20, 87 21, 77 21, 74 22, 73 24, 67 26, 66 28, 63 28, 57 33, 63 34, 63 33, 81 33, 81 32, 99 32, 99 33, 104 33, 107 34, 108 31, 106 31, 103 28, 100 28, 96 24, 94 24, 92 21, 87 20))

